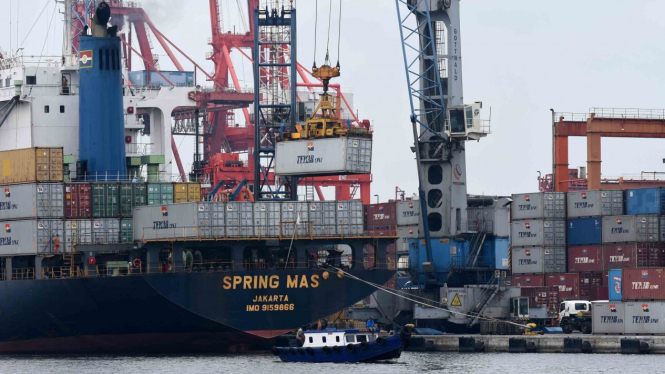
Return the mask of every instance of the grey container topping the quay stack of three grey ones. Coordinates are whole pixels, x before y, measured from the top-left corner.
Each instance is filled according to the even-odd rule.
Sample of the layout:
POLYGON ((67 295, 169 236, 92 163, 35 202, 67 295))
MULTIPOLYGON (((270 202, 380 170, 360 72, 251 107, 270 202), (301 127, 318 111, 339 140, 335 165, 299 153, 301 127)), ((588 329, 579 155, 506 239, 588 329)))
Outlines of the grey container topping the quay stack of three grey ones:
POLYGON ((513 195, 511 204, 513 220, 520 219, 565 219, 565 192, 534 192, 513 195))

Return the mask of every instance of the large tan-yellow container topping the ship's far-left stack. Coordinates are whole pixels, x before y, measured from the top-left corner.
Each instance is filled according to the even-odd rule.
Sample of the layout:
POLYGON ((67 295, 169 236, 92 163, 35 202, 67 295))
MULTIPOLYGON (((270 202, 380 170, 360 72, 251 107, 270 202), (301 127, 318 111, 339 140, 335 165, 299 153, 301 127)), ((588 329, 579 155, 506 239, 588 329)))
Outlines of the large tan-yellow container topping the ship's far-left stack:
POLYGON ((62 147, 0 151, 0 185, 62 182, 62 147))

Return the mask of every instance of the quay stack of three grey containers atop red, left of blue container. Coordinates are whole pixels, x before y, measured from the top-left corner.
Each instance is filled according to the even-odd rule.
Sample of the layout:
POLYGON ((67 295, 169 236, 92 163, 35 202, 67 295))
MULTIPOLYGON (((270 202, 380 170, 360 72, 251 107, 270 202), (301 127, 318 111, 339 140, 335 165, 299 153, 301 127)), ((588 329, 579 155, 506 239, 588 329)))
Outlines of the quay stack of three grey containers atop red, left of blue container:
POLYGON ((564 274, 567 265, 565 193, 516 194, 512 199, 510 237, 513 283, 521 286, 558 286, 562 300, 576 297, 578 282, 571 279, 573 276, 564 274))

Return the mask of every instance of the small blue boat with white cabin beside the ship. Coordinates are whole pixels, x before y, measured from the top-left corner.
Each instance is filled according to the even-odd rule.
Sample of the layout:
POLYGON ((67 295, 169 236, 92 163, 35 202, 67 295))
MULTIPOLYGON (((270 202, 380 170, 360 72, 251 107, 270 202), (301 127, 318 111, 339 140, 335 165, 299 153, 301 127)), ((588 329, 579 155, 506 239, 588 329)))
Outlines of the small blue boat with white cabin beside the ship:
POLYGON ((284 362, 370 362, 397 359, 411 338, 406 326, 397 335, 381 336, 372 329, 299 331, 298 347, 273 347, 284 362), (303 339, 304 338, 304 339, 303 339))

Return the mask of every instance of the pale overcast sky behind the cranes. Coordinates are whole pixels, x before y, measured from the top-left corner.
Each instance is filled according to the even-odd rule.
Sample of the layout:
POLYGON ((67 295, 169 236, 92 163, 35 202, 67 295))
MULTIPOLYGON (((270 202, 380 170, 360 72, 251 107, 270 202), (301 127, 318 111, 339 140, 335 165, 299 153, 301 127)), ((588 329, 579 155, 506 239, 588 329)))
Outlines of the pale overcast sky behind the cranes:
MULTIPOLYGON (((22 44, 25 54, 60 53, 61 16, 54 0, 0 0, 0 48, 22 44), (48 4, 29 37, 28 30, 48 4), (18 13, 18 16, 17 16, 18 13), (16 20, 19 20, 18 25, 16 20), (18 26, 18 40, 16 42, 18 26)), ((237 0, 219 0, 225 29, 244 30, 237 0)), ((395 3, 392 0, 332 1, 330 54, 339 61, 344 89, 354 93, 354 106, 374 127, 372 195, 394 197, 395 186, 417 191, 417 175, 409 122, 409 99, 395 3)), ((318 1, 317 55, 325 56, 329 0, 318 1)), ((457 0, 453 0, 457 1, 457 0)), ((240 3, 244 3, 242 0, 240 3)), ((140 2, 156 26, 189 56, 212 70, 209 2, 149 0, 140 2)), ((298 0, 298 60, 312 65, 315 0, 298 0)), ((243 10, 246 15, 246 9, 243 10)), ((462 0, 461 44, 464 101, 491 108, 492 133, 467 145, 468 192, 509 195, 537 190, 538 171, 552 168, 551 112, 588 113, 590 108, 665 108, 665 2, 633 0, 462 0)), ((156 41, 153 38, 155 45, 156 41)), ((157 52, 163 52, 156 48, 157 52)), ((232 52, 241 85, 251 86, 251 65, 232 52)), ((136 61, 136 59, 135 59, 136 61)), ((181 59, 181 61, 185 61, 181 59)), ((166 56, 161 68, 172 69, 166 56)), ((191 64, 183 63, 186 68, 191 64)), ((189 139, 182 141, 184 162, 191 162, 189 139)), ((658 139, 603 139, 602 172, 612 177, 664 171, 658 139)), ((586 141, 571 138, 570 166, 586 164, 586 141)), ((329 197, 329 196, 327 196, 329 197)))

